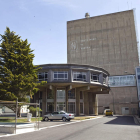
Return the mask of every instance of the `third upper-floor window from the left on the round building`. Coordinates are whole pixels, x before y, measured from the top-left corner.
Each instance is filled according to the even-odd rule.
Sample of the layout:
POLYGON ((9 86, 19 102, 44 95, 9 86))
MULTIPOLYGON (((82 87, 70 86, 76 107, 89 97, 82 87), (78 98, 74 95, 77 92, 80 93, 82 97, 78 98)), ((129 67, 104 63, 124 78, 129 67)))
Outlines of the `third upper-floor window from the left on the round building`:
POLYGON ((86 72, 73 72, 73 81, 86 81, 86 72))

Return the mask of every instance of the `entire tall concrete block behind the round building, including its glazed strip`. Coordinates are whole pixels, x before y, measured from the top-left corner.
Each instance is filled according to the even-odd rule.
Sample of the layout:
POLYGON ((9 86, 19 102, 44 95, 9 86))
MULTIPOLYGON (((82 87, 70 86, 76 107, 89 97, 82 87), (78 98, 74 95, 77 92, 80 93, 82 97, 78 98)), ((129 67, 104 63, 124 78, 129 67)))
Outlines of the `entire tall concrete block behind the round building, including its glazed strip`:
POLYGON ((135 67, 139 66, 134 10, 67 22, 67 63, 102 67, 110 73, 110 94, 98 95, 102 113, 136 114, 135 67))

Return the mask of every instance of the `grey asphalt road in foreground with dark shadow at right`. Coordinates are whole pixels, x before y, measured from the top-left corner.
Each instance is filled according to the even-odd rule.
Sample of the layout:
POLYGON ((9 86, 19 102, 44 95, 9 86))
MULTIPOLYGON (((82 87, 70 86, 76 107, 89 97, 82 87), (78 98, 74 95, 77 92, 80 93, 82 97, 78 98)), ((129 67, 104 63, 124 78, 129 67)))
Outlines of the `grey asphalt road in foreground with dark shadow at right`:
POLYGON ((140 125, 131 116, 103 117, 0 140, 140 140, 140 125))

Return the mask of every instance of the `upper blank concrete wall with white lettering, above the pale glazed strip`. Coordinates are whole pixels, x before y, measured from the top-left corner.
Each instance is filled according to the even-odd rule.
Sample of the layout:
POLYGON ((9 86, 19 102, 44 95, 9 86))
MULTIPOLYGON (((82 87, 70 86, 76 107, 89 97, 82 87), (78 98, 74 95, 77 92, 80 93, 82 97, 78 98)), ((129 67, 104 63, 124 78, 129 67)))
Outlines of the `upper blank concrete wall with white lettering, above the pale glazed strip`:
POLYGON ((133 10, 69 21, 67 62, 99 66, 110 75, 134 74, 139 61, 133 10))

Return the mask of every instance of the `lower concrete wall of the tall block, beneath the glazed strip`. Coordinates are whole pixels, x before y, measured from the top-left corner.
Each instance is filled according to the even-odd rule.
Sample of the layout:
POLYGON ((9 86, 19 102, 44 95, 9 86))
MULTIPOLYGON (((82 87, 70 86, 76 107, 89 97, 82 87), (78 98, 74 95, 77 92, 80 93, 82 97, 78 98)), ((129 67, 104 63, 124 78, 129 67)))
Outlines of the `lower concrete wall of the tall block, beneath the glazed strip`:
MULTIPOLYGON (((132 110, 138 109, 136 87, 111 88, 110 94, 98 94, 99 113, 102 114, 105 107, 110 107, 116 114, 121 114, 122 107, 129 107, 132 110), (113 100, 114 98, 114 100, 113 100)), ((132 111, 130 114, 133 114, 132 111)), ((134 113, 135 114, 135 113, 134 113)))

